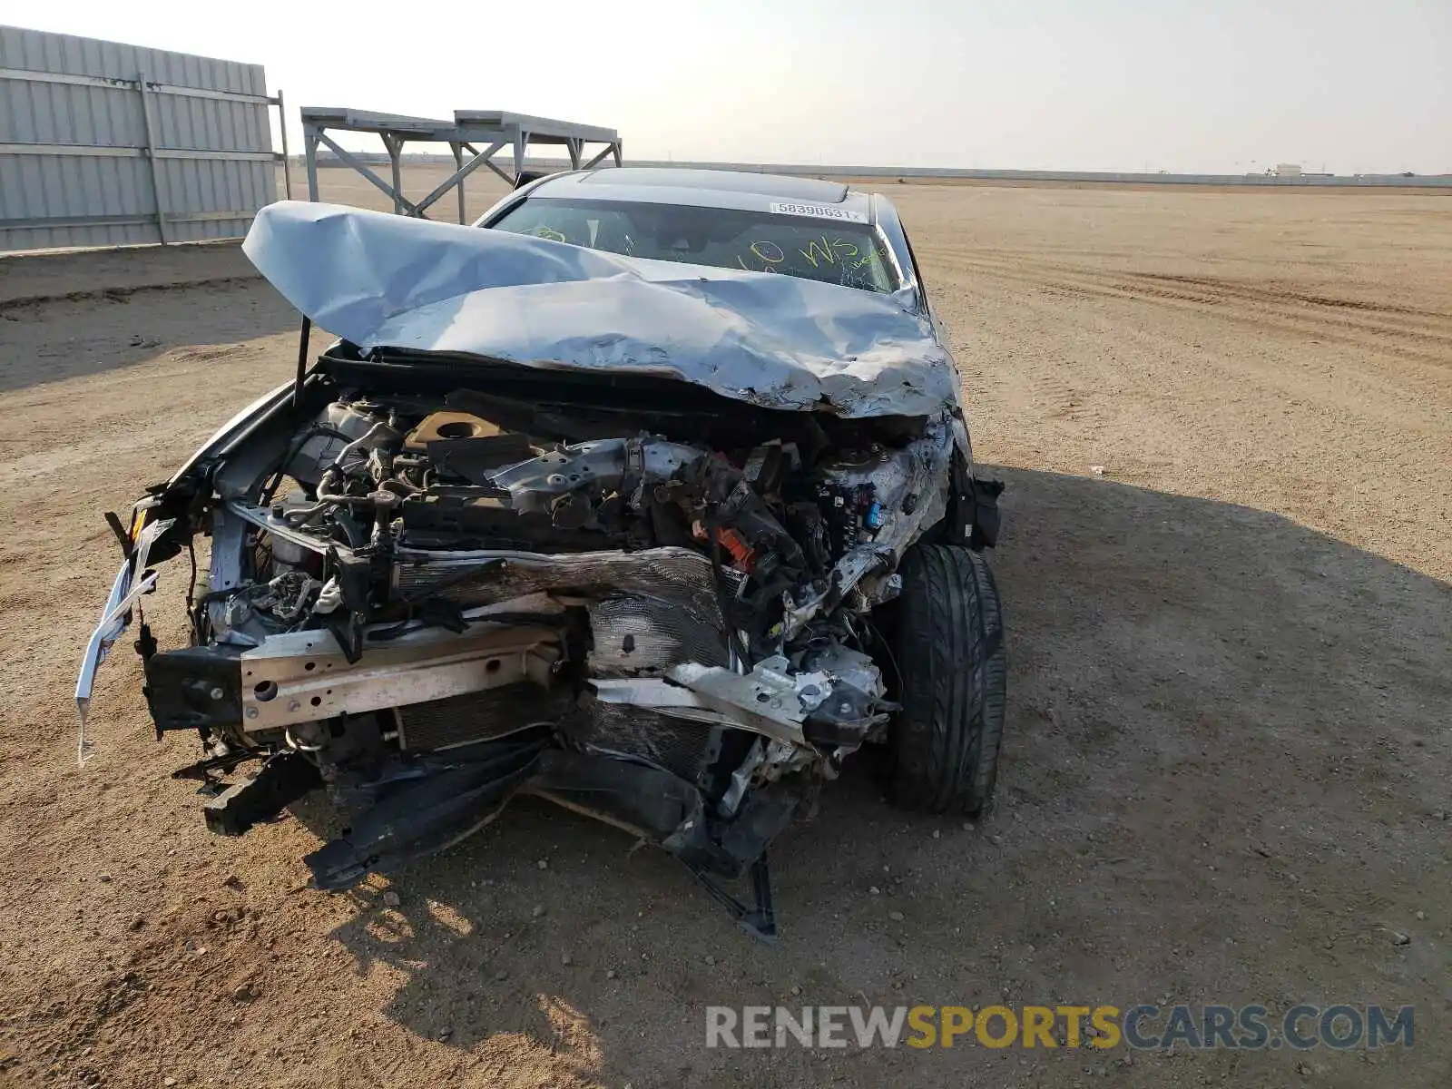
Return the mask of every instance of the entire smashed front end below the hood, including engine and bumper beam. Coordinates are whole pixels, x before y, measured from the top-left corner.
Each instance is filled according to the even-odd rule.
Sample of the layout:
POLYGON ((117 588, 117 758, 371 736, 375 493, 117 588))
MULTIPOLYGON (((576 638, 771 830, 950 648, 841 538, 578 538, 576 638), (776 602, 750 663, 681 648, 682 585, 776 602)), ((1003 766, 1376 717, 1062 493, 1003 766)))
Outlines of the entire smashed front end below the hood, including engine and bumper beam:
POLYGON ((346 887, 539 794, 736 876, 883 739, 873 610, 983 521, 961 421, 530 380, 319 367, 138 504, 135 582, 212 539, 190 645, 138 648, 215 831, 322 786, 351 822, 306 861, 346 887))

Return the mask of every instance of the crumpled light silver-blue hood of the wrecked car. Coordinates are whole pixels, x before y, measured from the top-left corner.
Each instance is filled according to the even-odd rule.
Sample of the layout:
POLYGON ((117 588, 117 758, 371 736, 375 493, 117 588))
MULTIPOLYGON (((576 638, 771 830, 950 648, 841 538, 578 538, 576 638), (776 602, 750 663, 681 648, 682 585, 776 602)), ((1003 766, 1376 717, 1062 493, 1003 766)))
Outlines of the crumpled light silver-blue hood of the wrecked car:
POLYGON ((957 405, 951 357, 894 295, 298 200, 263 208, 242 250, 364 350, 653 373, 844 417, 957 405))

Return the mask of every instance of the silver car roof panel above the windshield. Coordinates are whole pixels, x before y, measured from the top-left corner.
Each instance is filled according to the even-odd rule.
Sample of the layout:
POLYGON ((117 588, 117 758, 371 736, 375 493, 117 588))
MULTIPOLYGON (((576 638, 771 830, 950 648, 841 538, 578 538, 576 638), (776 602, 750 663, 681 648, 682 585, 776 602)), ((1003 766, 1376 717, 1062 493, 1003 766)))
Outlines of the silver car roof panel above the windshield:
POLYGON ((549 177, 530 186, 531 199, 620 200, 770 212, 772 203, 836 205, 873 218, 867 193, 816 177, 693 167, 603 167, 549 177))

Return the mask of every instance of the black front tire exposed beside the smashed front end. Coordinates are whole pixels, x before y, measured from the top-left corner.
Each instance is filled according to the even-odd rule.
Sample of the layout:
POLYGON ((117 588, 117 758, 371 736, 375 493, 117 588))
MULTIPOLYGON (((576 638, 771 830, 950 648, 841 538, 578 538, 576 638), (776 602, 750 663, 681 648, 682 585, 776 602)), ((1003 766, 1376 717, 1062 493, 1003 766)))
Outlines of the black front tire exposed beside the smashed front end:
POLYGON ((1008 682, 993 572, 977 552, 922 543, 900 571, 893 653, 902 710, 889 730, 889 799, 977 816, 993 796, 1008 682))

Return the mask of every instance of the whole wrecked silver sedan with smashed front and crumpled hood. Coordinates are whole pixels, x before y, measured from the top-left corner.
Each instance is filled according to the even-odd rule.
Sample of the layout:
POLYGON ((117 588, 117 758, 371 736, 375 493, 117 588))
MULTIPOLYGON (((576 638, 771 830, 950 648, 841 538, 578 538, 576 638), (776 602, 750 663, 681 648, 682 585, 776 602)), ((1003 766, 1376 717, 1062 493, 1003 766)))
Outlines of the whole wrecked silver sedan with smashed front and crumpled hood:
POLYGON ((770 937, 768 845, 851 754, 903 807, 989 802, 1000 485, 886 199, 616 168, 475 228, 283 202, 244 248, 306 315, 298 378, 107 515, 83 759, 96 668, 182 555, 189 645, 138 626, 157 735, 199 735, 179 774, 224 835, 325 790, 322 889, 533 794, 770 937))

